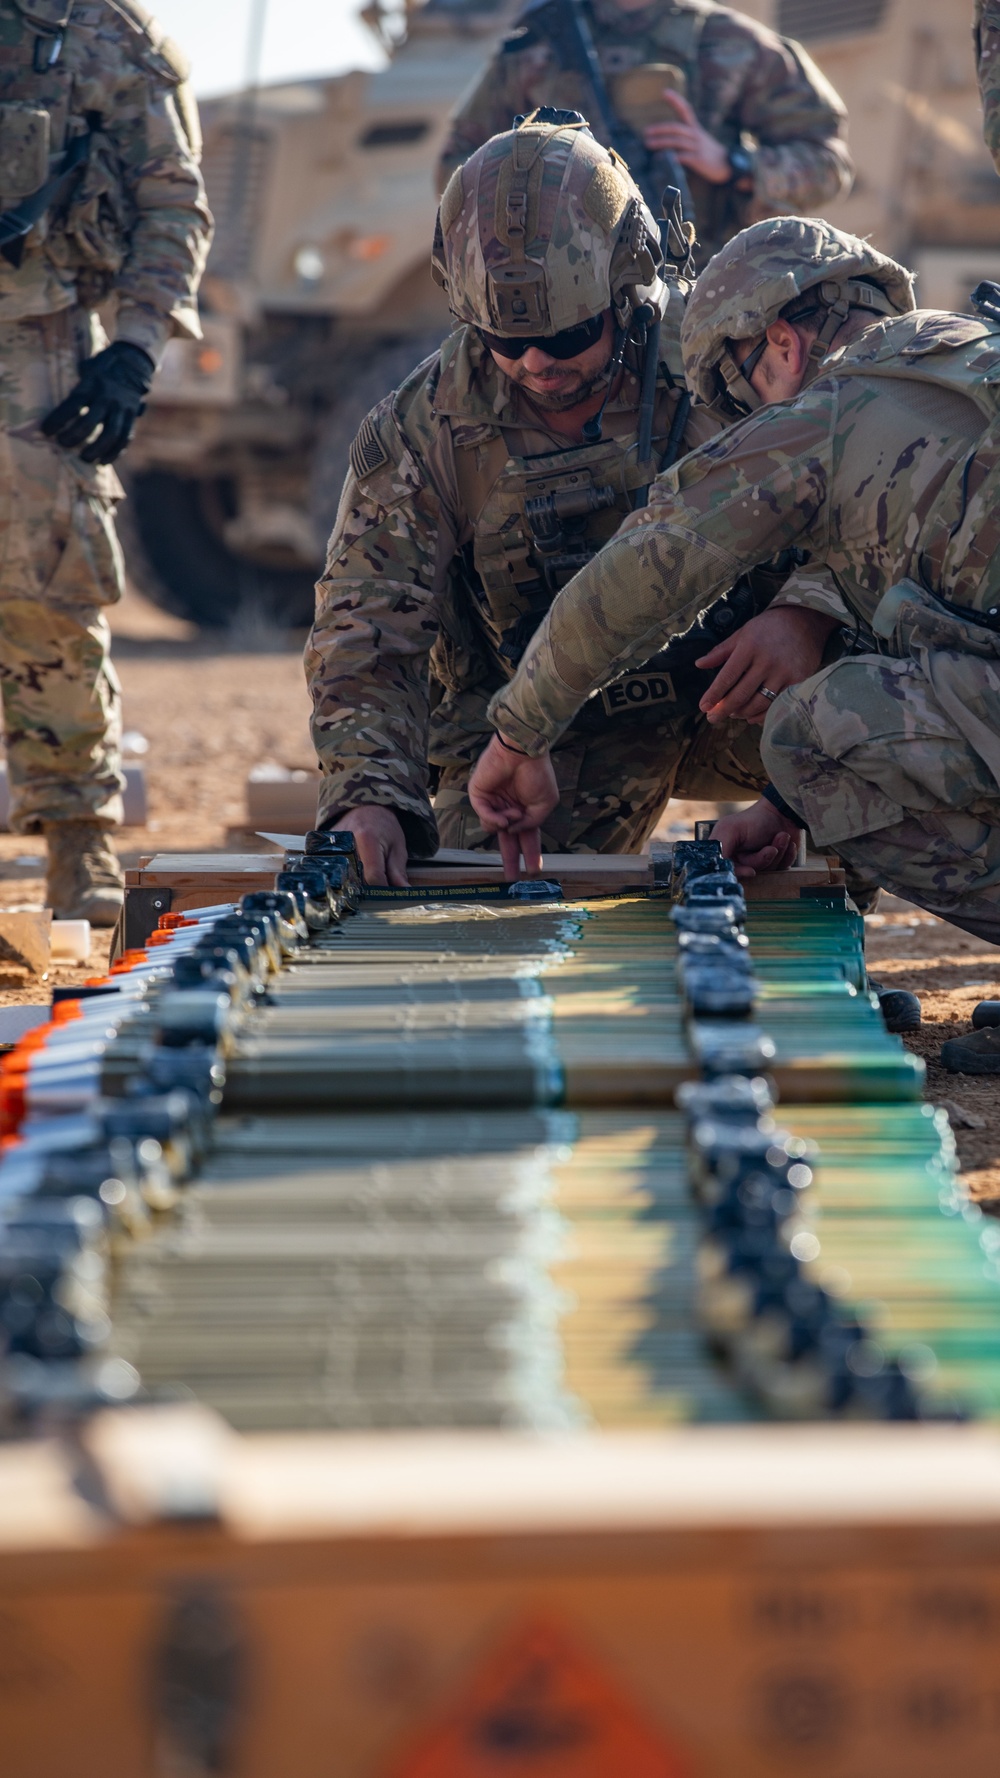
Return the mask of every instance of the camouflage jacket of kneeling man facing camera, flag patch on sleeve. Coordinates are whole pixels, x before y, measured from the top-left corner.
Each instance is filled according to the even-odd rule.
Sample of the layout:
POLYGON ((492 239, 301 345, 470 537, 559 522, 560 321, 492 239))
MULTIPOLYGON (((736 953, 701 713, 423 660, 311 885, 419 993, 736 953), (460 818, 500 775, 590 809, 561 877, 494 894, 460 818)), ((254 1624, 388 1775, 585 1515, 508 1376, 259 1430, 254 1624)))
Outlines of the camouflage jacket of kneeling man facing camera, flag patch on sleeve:
MULTIPOLYGON (((664 348, 657 461, 683 388, 676 327, 664 348)), ((306 649, 313 743, 324 772, 324 820, 358 804, 397 811, 415 853, 436 850, 429 800, 431 676, 447 690, 489 693, 514 672, 555 592, 539 583, 521 523, 521 494, 582 471, 614 482, 591 542, 630 510, 639 379, 626 373, 605 411, 600 446, 539 430, 516 388, 470 327, 386 396, 363 423, 317 587, 306 649), (530 487, 527 485, 530 484, 530 487)), ((701 411, 681 450, 717 430, 701 411)), ((571 573, 571 571, 569 571, 571 573)), ((569 578, 569 574, 566 574, 569 578)))

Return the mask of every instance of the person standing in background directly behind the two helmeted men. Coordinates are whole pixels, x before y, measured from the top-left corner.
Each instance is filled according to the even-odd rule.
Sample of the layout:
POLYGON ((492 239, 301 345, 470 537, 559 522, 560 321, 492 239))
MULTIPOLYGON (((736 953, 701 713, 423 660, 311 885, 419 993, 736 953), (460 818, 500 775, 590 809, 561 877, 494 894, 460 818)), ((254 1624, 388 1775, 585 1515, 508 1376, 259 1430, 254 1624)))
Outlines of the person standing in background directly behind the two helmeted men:
POLYGON ((797 43, 714 0, 532 0, 452 119, 440 188, 537 105, 582 110, 653 215, 662 187, 681 187, 699 263, 747 222, 851 188, 829 80, 797 43))

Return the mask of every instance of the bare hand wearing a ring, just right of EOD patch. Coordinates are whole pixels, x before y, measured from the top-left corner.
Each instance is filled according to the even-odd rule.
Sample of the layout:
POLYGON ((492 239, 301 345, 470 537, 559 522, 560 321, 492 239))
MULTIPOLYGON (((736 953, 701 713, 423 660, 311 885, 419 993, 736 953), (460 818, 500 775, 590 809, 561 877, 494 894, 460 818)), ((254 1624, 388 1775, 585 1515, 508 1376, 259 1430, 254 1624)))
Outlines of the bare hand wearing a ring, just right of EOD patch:
POLYGON ((799 605, 770 606, 751 617, 696 661, 710 672, 719 669, 698 708, 708 722, 738 717, 762 724, 774 699, 762 697, 760 688, 778 693, 819 672, 831 629, 835 617, 799 605))

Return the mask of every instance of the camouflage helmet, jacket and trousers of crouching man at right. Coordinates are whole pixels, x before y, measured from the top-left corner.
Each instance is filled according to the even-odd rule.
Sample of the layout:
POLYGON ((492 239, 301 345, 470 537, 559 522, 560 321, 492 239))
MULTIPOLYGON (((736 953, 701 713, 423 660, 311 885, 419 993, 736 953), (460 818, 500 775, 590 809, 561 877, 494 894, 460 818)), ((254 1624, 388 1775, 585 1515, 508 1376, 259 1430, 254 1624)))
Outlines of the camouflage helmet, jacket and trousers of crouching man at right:
MULTIPOLYGON (((753 315, 754 281, 779 288, 781 251, 813 281, 817 240, 831 260, 870 252, 824 224, 795 228, 799 240, 792 224, 762 224, 733 242, 703 272, 685 329, 731 292, 753 315)), ((788 276, 786 299, 795 288, 788 276)), ((705 393, 703 347, 689 336, 685 363, 705 393)), ((491 715, 543 752, 596 686, 797 544, 833 571, 868 651, 774 702, 772 784, 820 850, 998 941, 1000 332, 961 315, 888 316, 817 372, 655 485, 555 601, 491 715)))

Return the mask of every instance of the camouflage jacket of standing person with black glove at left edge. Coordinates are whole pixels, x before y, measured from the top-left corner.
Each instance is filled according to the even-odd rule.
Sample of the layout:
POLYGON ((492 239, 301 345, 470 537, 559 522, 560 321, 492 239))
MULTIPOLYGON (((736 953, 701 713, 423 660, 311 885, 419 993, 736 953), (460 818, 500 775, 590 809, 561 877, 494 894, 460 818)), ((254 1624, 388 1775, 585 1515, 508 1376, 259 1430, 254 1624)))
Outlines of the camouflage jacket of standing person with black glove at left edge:
POLYGON ((80 137, 85 158, 20 263, 0 258, 0 320, 114 292, 117 338, 157 361, 171 332, 199 338, 212 236, 180 52, 135 0, 0 0, 0 210, 41 190, 80 137))

